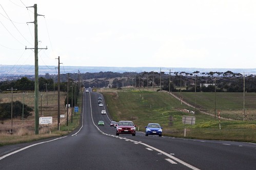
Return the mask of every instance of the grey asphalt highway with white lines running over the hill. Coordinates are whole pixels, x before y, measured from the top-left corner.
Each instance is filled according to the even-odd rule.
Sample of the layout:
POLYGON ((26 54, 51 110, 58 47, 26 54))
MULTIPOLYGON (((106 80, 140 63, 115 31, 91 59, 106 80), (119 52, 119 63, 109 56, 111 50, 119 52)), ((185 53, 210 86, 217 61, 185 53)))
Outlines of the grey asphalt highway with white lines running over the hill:
POLYGON ((99 96, 84 93, 81 126, 67 136, 0 147, 0 169, 256 169, 253 143, 115 136, 99 96))

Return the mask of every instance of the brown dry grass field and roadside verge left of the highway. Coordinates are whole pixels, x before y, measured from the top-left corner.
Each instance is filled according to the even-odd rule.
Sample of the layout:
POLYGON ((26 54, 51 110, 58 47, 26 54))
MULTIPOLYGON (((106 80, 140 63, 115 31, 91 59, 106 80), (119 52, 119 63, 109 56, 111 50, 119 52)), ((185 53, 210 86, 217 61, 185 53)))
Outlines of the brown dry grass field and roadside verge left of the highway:
MULTIPOLYGON (((34 92, 15 92, 13 93, 13 101, 21 101, 34 109, 34 92)), ((10 133, 11 120, 2 120, 0 122, 0 146, 6 144, 23 143, 34 140, 39 140, 42 138, 50 138, 60 135, 65 135, 70 131, 57 131, 57 92, 42 92, 40 93, 39 99, 39 116, 52 116, 53 123, 51 125, 40 125, 39 134, 34 134, 34 112, 32 116, 22 120, 20 118, 15 118, 12 120, 13 133, 10 133), (42 94, 42 107, 41 107, 41 94, 42 94), (48 104, 47 104, 48 99, 48 104)), ((66 98, 66 93, 60 93, 60 112, 61 114, 67 113, 67 108, 64 105, 66 98)), ((11 102, 11 93, 0 93, 0 103, 11 102)), ((69 109, 69 116, 70 114, 69 109)), ((79 122, 79 121, 78 121, 79 122)), ((66 118, 61 118, 61 125, 65 126, 66 118)))

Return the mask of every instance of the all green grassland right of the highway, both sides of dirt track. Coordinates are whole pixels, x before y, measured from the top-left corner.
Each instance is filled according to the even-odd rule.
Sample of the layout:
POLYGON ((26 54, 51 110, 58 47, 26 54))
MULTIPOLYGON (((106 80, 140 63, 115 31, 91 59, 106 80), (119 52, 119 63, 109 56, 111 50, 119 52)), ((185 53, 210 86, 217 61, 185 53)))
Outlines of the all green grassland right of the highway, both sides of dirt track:
MULTIPOLYGON (((238 115, 243 110, 243 93, 218 93, 219 102, 216 102, 217 110, 221 116, 234 119, 221 119, 218 117, 203 114, 199 108, 214 115, 215 95, 214 93, 197 93, 195 114, 188 113, 186 110, 195 110, 180 100, 173 98, 167 92, 143 91, 143 90, 115 90, 115 92, 102 92, 108 111, 115 121, 132 120, 140 131, 145 130, 148 123, 159 123, 164 129, 164 135, 183 137, 184 128, 187 129, 187 138, 214 139, 214 140, 233 140, 256 142, 256 122, 253 98, 254 93, 246 94, 246 111, 249 111, 247 121, 240 120, 243 114, 238 115), (240 101, 242 100, 242 102, 240 101), (195 125, 184 125, 182 116, 195 116, 195 125), (170 125, 169 117, 172 116, 170 125), (221 130, 220 130, 221 124, 221 130)), ((175 95, 180 95, 176 93, 175 95)), ((183 100, 194 105, 195 94, 182 93, 183 100)))

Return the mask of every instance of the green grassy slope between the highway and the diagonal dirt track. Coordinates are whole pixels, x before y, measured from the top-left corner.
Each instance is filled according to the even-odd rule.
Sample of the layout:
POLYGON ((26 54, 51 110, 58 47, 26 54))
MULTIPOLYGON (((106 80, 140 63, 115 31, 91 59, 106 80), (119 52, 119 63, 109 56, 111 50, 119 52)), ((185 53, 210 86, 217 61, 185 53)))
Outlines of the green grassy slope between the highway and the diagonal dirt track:
MULTIPOLYGON (((188 111, 194 110, 193 108, 181 104, 166 92, 137 89, 101 90, 101 92, 104 94, 108 112, 113 120, 132 120, 140 131, 144 131, 148 123, 160 123, 164 127, 163 133, 168 136, 182 137, 186 127, 188 138, 256 142, 255 120, 219 120, 218 117, 203 114, 199 110, 192 114, 188 111), (195 125, 184 126, 182 124, 184 115, 195 116, 195 125)), ((207 98, 209 93, 205 95, 207 98)), ((230 98, 233 97, 235 96, 230 95, 230 98)), ((211 102, 206 103, 210 105, 211 102)))

